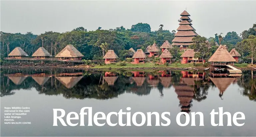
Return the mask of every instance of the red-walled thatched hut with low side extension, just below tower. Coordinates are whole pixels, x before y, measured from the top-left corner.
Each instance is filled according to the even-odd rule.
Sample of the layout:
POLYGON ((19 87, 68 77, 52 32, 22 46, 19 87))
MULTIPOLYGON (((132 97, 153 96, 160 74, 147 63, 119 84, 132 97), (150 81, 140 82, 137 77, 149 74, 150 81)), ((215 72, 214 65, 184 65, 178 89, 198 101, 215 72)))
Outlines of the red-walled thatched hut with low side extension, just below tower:
MULTIPOLYGON (((189 62, 202 62, 203 60, 201 58, 194 58, 195 55, 194 49, 187 49, 182 55, 182 61, 181 64, 187 64, 189 62)), ((205 61, 205 60, 204 60, 205 61)))

